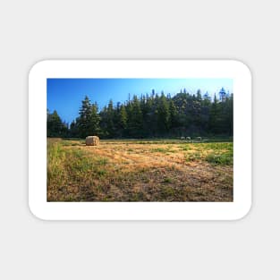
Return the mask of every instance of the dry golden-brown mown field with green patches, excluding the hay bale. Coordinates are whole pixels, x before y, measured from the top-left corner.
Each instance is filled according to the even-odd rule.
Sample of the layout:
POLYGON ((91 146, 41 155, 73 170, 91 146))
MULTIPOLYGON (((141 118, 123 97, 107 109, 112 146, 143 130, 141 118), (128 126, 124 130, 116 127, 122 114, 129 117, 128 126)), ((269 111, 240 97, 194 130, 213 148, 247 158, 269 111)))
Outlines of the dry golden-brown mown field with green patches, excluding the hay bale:
POLYGON ((47 201, 233 201, 233 142, 48 139, 47 201))

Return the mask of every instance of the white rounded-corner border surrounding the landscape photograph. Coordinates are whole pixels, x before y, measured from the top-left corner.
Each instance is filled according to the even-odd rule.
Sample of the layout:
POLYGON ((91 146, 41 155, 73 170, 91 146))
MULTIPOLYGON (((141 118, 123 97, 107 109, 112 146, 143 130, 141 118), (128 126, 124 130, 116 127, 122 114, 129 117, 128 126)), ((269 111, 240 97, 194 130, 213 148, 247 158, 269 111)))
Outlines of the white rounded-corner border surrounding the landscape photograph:
POLYGON ((46 220, 234 220, 251 205, 251 75, 233 60, 49 60, 29 77, 29 203, 46 220), (47 202, 47 78, 233 79, 233 202, 47 202), (43 125, 44 124, 44 125, 43 125))

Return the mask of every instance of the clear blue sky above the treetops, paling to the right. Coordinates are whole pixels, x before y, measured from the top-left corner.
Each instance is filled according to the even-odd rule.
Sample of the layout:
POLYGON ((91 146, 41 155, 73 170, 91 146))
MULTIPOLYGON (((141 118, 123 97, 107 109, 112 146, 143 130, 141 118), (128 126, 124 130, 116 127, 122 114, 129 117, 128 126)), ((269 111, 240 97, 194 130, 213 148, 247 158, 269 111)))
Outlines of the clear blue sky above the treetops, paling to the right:
POLYGON ((198 89, 201 94, 213 97, 221 88, 233 92, 231 79, 47 79, 47 108, 58 115, 66 123, 71 123, 79 115, 81 100, 87 95, 91 103, 97 102, 99 110, 106 106, 110 99, 114 105, 128 100, 135 94, 150 94, 152 89, 160 94, 174 96, 182 89, 195 94, 198 89))

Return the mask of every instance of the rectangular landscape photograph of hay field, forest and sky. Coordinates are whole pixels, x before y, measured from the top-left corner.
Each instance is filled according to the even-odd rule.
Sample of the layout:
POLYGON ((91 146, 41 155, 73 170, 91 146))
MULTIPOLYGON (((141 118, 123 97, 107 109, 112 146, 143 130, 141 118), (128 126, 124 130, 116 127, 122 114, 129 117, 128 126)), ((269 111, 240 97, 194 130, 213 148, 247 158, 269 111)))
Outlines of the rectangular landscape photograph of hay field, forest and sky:
POLYGON ((233 79, 47 78, 47 202, 233 202, 233 79))

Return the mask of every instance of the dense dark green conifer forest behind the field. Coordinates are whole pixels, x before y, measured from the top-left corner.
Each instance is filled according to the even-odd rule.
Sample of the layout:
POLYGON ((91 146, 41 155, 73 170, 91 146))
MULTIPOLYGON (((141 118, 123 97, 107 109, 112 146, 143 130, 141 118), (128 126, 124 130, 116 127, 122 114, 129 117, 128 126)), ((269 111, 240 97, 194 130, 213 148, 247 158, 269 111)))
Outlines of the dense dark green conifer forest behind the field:
POLYGON ((200 90, 192 95, 183 89, 171 97, 152 90, 124 103, 114 105, 110 100, 100 111, 86 96, 79 116, 70 125, 62 122, 56 111, 47 110, 47 137, 88 135, 103 139, 233 136, 233 94, 221 89, 218 98, 210 98, 208 93, 202 97, 200 90))

